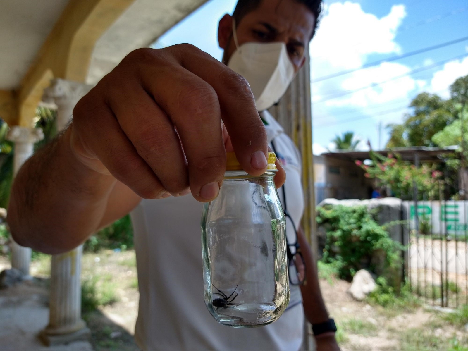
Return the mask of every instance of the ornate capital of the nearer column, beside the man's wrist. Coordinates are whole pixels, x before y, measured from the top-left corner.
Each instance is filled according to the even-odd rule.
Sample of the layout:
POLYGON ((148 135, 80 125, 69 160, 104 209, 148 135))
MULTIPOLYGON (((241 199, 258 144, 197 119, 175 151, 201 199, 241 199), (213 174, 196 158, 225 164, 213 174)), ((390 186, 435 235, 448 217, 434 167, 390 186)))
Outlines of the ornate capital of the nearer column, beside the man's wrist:
POLYGON ((69 103, 74 106, 91 88, 92 85, 56 78, 51 80, 48 88, 44 89, 42 101, 56 104, 69 103))

